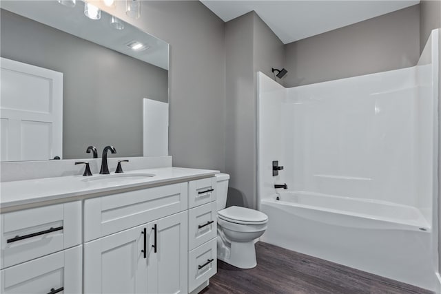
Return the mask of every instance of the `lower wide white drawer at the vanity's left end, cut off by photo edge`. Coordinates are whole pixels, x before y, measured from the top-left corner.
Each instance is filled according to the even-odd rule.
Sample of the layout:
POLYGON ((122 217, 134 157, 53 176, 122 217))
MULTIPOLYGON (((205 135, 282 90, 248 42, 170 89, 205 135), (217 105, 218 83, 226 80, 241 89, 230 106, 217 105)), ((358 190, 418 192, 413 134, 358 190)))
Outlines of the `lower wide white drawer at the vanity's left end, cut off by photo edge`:
POLYGON ((82 246, 0 271, 1 293, 81 293, 82 246), (53 290, 52 290, 53 289, 53 290))

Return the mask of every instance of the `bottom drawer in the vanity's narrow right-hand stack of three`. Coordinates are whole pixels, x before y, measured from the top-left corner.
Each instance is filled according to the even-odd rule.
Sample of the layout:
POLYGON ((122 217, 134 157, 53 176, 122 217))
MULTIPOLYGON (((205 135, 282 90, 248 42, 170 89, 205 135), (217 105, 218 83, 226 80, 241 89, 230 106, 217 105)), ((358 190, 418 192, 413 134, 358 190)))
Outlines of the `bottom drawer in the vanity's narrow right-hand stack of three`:
POLYGON ((188 292, 217 273, 216 238, 188 253, 188 292))

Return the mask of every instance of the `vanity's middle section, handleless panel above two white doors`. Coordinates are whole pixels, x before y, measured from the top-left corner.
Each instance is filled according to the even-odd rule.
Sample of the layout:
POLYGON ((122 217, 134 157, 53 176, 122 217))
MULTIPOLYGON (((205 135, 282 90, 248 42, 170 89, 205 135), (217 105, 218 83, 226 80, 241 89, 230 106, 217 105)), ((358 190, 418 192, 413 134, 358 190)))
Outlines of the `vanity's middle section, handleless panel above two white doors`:
POLYGON ((84 292, 187 293, 187 200, 187 182, 85 200, 84 292))

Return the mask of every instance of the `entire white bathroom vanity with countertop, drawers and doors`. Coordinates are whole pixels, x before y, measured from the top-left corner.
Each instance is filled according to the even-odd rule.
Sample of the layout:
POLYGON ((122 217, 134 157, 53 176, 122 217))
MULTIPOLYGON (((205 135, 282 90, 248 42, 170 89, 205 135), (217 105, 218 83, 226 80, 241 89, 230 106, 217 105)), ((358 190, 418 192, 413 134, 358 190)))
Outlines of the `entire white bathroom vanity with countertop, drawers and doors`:
POLYGON ((218 171, 1 183, 1 293, 198 293, 216 273, 218 171))

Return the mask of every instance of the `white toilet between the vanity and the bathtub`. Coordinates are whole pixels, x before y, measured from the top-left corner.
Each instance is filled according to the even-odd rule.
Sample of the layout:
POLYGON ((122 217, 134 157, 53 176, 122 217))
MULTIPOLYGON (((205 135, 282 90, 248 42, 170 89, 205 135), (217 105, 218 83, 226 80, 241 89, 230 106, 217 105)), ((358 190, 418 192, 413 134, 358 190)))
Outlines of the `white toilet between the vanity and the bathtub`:
POLYGON ((268 216, 245 207, 225 208, 229 175, 216 174, 216 178, 218 259, 240 269, 252 269, 257 265, 254 240, 267 229, 268 216))

